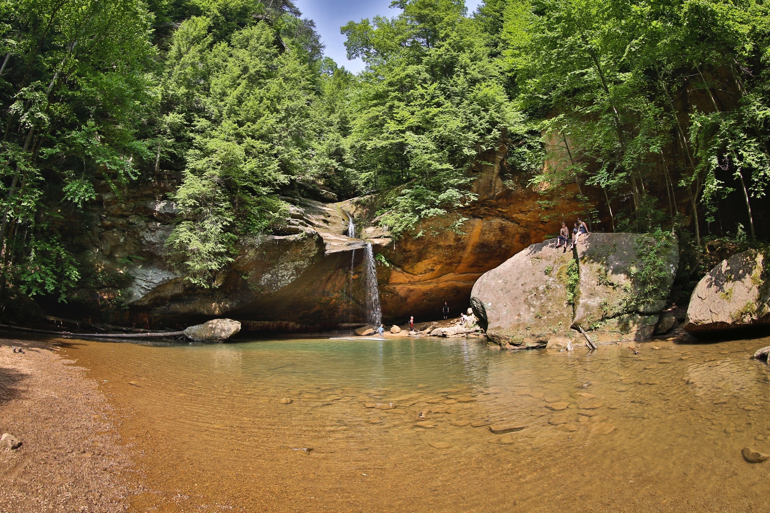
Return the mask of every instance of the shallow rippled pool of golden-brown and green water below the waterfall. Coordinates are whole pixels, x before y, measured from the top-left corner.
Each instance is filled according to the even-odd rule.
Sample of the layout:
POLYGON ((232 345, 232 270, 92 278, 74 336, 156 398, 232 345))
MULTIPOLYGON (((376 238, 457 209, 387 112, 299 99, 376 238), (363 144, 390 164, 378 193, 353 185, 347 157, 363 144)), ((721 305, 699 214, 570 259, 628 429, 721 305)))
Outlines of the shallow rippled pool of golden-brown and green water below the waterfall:
POLYGON ((133 412, 122 432, 179 508, 767 511, 770 462, 740 458, 770 451, 770 382, 748 358, 762 345, 88 341, 70 354, 133 412))

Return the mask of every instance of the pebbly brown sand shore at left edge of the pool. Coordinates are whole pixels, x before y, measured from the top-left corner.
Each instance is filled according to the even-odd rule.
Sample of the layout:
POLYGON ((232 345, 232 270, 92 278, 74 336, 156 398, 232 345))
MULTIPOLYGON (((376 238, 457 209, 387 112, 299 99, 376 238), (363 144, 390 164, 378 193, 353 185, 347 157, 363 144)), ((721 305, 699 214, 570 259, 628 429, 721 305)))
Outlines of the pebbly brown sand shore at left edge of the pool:
POLYGON ((96 383, 57 355, 67 341, 0 345, 0 432, 23 442, 0 449, 0 511, 124 511, 136 482, 128 451, 96 383))

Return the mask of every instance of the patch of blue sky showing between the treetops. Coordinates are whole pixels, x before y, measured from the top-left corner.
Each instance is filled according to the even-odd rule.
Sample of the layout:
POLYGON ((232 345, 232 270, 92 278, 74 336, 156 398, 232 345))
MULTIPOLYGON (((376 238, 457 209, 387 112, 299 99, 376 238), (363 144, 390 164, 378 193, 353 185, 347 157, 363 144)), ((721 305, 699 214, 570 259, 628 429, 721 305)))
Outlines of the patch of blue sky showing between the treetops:
MULTIPOLYGON (((340 34, 340 27, 353 20, 360 22, 363 18, 373 18, 377 15, 395 16, 397 9, 390 8, 391 0, 294 0, 294 5, 300 8, 305 18, 316 22, 323 44, 326 45, 326 55, 333 58, 338 65, 343 65, 351 72, 360 72, 363 62, 360 59, 348 61, 345 55, 345 36, 340 34)), ((465 0, 468 12, 473 12, 480 0, 465 0)))

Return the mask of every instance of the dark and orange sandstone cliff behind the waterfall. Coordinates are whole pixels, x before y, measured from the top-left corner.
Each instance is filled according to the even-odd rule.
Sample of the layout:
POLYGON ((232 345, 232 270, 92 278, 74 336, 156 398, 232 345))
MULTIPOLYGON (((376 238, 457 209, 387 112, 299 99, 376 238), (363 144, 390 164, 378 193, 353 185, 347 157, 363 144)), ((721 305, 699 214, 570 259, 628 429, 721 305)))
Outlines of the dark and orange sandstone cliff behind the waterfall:
POLYGON ((377 271, 385 321, 440 318, 444 301, 457 315, 484 272, 557 232, 563 215, 583 208, 564 199, 542 207, 537 202, 543 197, 510 175, 506 152, 503 147, 480 155, 470 170, 476 202, 423 222, 424 235, 397 242, 370 225, 373 198, 326 203, 286 198, 291 202, 286 225, 240 240, 235 261, 209 289, 191 285, 166 263, 164 243, 177 213, 169 199, 174 182, 152 182, 122 197, 105 184, 101 203, 72 230, 89 275, 67 304, 44 307, 52 315, 146 328, 223 316, 243 321, 244 330, 361 323, 365 242, 347 237, 352 215, 357 237, 381 255, 377 271), (447 229, 459 217, 467 218, 463 233, 447 229))

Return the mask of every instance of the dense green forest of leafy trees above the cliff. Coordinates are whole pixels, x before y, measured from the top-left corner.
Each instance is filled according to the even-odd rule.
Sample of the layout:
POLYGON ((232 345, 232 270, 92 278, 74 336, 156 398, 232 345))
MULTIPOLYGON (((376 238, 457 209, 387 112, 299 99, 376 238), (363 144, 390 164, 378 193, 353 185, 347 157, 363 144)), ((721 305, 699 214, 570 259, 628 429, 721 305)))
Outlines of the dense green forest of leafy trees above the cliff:
POLYGON ((353 75, 290 0, 3 0, 2 302, 64 299, 82 269, 62 219, 96 182, 120 195, 162 171, 179 176, 169 261, 202 287, 287 196, 376 193, 377 222, 410 236, 474 200, 467 170, 500 145, 544 208, 590 190, 594 229, 675 230, 699 255, 730 198, 741 222, 713 236, 764 237, 762 2, 392 7, 341 28, 353 75))

